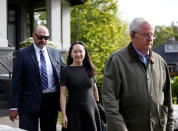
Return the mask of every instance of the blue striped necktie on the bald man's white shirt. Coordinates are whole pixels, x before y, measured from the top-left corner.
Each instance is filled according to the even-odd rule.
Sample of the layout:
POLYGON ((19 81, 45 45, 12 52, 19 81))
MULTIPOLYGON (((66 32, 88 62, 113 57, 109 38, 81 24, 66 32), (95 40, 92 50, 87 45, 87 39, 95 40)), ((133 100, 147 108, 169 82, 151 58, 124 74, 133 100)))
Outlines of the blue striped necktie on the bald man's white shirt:
POLYGON ((41 84, 43 89, 48 88, 48 75, 46 69, 46 60, 43 51, 40 50, 40 63, 41 63, 41 84))

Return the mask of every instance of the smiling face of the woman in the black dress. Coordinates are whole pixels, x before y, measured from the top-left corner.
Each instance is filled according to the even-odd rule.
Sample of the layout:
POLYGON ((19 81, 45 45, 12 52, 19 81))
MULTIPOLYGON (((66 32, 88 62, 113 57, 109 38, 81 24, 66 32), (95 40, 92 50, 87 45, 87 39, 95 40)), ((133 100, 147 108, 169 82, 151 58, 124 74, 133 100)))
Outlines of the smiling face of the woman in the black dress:
POLYGON ((85 58, 85 49, 82 45, 76 44, 72 48, 71 57, 73 58, 73 63, 77 65, 82 65, 85 58))

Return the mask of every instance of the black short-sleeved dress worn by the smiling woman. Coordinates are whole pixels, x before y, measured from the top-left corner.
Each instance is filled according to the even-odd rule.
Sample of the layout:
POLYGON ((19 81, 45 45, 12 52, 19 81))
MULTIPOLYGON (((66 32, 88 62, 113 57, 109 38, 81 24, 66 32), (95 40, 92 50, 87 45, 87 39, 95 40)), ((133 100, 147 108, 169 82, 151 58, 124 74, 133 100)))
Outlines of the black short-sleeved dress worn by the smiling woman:
POLYGON ((62 70, 61 85, 67 86, 66 115, 68 128, 63 131, 101 131, 99 111, 93 95, 94 77, 83 66, 62 70))

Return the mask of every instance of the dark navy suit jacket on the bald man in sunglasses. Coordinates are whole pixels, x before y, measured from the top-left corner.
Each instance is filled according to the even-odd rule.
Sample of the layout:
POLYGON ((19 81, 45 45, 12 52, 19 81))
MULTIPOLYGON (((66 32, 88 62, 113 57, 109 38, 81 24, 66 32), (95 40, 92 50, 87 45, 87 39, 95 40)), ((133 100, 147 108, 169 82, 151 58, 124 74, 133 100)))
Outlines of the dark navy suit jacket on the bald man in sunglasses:
MULTIPOLYGON (((60 71, 64 66, 60 52, 47 46, 56 87, 59 93, 60 71)), ((21 113, 36 115, 40 111, 42 96, 39 65, 33 44, 16 54, 12 75, 10 108, 18 108, 21 113)), ((59 103, 58 103, 59 104, 59 103)))

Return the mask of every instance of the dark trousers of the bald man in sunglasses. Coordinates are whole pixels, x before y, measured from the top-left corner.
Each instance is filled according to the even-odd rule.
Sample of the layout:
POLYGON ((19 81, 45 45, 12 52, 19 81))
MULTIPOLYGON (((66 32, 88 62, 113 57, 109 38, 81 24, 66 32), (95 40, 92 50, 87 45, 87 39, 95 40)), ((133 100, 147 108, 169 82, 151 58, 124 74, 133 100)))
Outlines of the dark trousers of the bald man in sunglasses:
POLYGON ((42 95, 42 103, 39 115, 19 114, 19 127, 28 131, 38 131, 38 120, 41 131, 56 131, 59 94, 45 93, 42 95))

